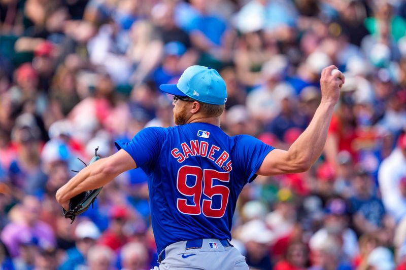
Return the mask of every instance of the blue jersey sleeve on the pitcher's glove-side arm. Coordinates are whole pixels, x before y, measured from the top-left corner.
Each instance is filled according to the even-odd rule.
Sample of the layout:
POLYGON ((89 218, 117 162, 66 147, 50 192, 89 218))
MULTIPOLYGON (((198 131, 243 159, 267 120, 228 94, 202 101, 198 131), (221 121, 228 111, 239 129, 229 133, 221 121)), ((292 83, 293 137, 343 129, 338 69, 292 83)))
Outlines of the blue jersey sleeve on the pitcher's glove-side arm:
POLYGON ((137 167, 145 171, 158 158, 166 134, 165 128, 150 127, 138 132, 129 142, 118 140, 114 144, 118 150, 129 153, 137 167))

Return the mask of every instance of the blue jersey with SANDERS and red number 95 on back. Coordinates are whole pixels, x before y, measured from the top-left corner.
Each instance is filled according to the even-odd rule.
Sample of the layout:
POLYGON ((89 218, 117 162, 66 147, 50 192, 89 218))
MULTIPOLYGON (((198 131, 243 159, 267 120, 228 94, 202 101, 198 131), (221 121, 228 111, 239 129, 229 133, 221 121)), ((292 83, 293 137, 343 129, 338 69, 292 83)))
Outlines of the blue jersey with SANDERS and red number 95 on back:
POLYGON ((241 189, 274 147, 219 127, 190 123, 146 128, 116 141, 149 176, 152 228, 158 253, 185 240, 231 239, 241 189))

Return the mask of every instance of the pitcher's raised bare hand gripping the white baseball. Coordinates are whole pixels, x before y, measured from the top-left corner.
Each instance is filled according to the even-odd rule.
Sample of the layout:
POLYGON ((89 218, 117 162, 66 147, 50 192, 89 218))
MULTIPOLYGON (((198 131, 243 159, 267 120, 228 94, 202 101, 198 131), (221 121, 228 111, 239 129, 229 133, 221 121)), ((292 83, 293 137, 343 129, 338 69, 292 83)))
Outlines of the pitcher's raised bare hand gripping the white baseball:
POLYGON ((321 88, 321 101, 337 103, 340 97, 340 88, 345 83, 343 73, 334 72, 333 69, 337 67, 330 65, 321 71, 320 88, 321 88))

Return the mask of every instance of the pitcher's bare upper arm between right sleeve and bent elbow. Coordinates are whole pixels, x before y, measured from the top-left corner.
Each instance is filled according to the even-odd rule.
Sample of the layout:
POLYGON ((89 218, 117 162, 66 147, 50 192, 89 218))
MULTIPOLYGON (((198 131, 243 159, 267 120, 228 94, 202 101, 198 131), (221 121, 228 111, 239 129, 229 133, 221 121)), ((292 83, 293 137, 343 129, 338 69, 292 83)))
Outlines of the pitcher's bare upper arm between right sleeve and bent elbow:
POLYGON ((274 149, 266 155, 256 174, 270 176, 302 171, 303 167, 294 162, 288 151, 274 149))

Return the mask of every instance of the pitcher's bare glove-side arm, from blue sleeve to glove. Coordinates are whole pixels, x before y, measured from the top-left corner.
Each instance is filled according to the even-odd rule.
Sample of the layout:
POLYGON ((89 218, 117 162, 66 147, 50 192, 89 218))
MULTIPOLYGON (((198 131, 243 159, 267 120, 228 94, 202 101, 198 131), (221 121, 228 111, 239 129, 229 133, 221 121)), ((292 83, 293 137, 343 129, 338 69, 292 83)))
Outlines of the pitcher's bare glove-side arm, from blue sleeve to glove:
POLYGON ((137 168, 136 162, 129 153, 121 149, 114 155, 100 159, 81 170, 56 191, 56 200, 64 209, 69 209, 71 198, 83 191, 104 186, 120 173, 135 168, 137 168))

